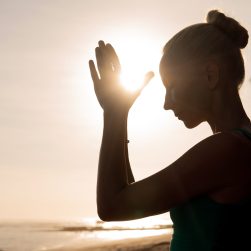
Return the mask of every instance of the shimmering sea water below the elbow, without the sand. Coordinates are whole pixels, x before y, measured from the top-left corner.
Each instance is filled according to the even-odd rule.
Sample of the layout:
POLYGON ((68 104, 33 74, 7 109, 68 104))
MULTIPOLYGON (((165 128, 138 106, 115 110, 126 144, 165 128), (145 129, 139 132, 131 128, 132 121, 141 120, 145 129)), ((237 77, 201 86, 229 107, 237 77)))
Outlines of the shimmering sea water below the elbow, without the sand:
POLYGON ((46 251, 81 244, 100 245, 113 240, 167 233, 168 217, 148 217, 127 222, 103 222, 97 218, 74 221, 23 221, 0 223, 0 251, 46 251))

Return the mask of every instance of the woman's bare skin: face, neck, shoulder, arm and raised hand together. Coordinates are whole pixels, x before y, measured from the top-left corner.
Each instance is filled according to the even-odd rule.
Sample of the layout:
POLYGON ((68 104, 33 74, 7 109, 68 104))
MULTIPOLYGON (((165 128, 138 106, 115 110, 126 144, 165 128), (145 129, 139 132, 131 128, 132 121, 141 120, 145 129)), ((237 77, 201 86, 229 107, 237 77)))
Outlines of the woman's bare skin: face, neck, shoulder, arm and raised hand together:
POLYGON ((233 132, 240 127, 251 129, 251 125, 237 90, 227 88, 219 64, 170 65, 161 74, 167 90, 164 109, 179 114, 188 128, 207 121, 213 135, 168 167, 135 182, 126 143, 127 118, 153 74, 146 75, 141 90, 131 93, 119 85, 119 59, 110 44, 99 41, 96 60, 98 69, 92 60, 89 66, 104 111, 97 181, 97 209, 102 220, 132 220, 168 212, 200 195, 233 203, 251 193, 251 144, 233 132))

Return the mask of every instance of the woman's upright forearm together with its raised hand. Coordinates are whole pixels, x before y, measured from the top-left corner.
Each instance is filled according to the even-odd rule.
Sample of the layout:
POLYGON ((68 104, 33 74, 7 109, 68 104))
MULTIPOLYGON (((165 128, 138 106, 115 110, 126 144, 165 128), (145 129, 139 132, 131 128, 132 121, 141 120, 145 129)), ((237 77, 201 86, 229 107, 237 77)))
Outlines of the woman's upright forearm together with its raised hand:
POLYGON ((111 45, 103 41, 96 48, 99 76, 93 61, 89 62, 96 96, 104 110, 104 129, 100 149, 97 208, 101 218, 106 218, 110 202, 121 189, 134 181, 127 148, 127 116, 141 90, 153 77, 149 73, 141 90, 126 91, 119 84, 120 64, 111 45))

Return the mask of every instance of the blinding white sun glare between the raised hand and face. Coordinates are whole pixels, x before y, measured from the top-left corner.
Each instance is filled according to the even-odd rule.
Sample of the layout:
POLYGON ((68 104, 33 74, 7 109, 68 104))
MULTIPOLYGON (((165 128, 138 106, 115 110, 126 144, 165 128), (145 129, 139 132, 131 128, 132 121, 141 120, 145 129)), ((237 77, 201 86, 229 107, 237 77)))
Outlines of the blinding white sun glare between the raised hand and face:
MULTIPOLYGON (((111 44, 115 48, 121 63, 121 84, 130 92, 139 89, 147 72, 153 71, 154 78, 144 88, 130 113, 130 132, 144 135, 158 132, 166 125, 166 113, 163 104, 165 89, 159 76, 161 42, 149 35, 126 32, 123 36, 114 36, 111 44)), ((110 41, 109 41, 110 42, 110 41)), ((169 126, 171 123, 169 123, 169 126)))

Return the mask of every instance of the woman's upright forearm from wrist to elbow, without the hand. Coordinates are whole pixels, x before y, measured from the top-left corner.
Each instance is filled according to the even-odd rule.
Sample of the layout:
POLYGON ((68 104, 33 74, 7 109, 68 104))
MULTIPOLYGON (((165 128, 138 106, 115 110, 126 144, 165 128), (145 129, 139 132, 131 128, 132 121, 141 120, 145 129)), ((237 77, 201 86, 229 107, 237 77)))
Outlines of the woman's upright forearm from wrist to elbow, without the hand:
POLYGON ((128 185, 125 160, 126 126, 127 115, 104 113, 97 182, 99 214, 109 210, 117 194, 128 185))

